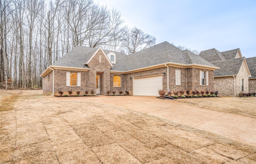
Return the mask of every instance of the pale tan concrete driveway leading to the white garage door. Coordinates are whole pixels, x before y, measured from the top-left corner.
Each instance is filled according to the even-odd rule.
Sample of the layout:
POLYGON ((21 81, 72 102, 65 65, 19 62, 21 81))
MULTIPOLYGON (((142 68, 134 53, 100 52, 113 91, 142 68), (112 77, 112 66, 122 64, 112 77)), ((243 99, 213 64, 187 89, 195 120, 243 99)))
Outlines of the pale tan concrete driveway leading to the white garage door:
MULTIPOLYGON (((58 98, 57 98, 58 99, 58 98)), ((190 106, 154 96, 97 96, 78 100, 146 113, 256 146, 256 119, 190 106)))

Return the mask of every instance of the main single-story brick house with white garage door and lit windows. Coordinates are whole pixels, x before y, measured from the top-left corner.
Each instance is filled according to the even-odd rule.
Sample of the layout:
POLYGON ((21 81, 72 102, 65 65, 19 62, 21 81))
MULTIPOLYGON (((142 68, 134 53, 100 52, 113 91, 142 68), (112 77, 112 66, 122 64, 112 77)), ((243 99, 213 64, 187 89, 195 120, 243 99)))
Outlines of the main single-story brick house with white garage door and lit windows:
POLYGON ((214 64, 168 42, 131 55, 77 46, 42 74, 44 94, 62 90, 128 91, 132 95, 158 96, 158 90, 214 91, 214 64))

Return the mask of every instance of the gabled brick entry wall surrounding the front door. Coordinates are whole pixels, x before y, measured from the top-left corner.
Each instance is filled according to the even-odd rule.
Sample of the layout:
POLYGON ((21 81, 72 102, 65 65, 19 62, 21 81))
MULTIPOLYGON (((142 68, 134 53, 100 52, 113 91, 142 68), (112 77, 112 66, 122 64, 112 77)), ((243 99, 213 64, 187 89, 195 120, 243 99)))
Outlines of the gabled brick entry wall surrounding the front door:
POLYGON ((106 91, 110 90, 110 68, 111 65, 105 57, 101 49, 94 55, 88 63, 89 71, 89 90, 96 93, 96 74, 100 74, 100 94, 106 95, 106 91), (102 56, 101 62, 99 55, 102 56))

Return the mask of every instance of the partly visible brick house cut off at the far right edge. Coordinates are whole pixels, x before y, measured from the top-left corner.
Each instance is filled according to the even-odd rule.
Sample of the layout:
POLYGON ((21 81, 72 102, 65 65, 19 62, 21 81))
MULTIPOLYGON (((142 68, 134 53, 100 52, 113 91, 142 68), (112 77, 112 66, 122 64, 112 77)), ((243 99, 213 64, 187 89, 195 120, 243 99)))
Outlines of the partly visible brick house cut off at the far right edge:
POLYGON ((246 59, 252 77, 249 78, 249 92, 256 93, 256 57, 246 59))

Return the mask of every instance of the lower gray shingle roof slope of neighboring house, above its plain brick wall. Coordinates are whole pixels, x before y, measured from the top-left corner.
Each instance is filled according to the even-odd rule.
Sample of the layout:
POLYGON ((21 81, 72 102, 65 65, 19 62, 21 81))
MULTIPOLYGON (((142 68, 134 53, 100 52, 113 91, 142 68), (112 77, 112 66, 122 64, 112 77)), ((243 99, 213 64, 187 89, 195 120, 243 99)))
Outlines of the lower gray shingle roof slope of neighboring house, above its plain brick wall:
POLYGON ((214 71, 214 76, 237 75, 244 59, 245 57, 211 62, 212 64, 220 67, 220 69, 214 71))

